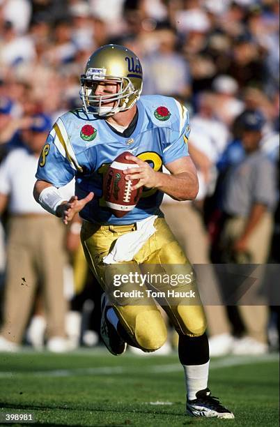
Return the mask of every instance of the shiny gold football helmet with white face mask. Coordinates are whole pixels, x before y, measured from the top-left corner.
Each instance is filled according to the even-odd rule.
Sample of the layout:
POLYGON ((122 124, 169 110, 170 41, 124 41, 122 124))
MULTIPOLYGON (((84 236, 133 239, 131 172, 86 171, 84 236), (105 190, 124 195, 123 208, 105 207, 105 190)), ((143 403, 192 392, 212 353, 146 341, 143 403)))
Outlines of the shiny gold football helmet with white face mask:
POLYGON ((141 94, 142 80, 141 63, 131 50, 120 45, 100 47, 88 59, 85 74, 81 75, 81 99, 86 112, 110 116, 129 110, 141 94), (116 93, 95 94, 100 82, 117 83, 116 93))

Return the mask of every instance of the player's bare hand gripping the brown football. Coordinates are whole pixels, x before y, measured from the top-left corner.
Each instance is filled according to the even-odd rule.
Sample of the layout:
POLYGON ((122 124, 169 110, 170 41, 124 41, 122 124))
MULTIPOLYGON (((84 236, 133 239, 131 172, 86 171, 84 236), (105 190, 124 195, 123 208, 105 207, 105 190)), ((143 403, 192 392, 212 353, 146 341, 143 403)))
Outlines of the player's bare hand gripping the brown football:
POLYGON ((155 186, 157 186, 159 172, 155 172, 155 170, 153 170, 153 167, 150 167, 147 162, 143 162, 143 160, 140 160, 138 157, 125 156, 125 158, 127 160, 134 161, 134 163, 137 163, 137 165, 139 166, 132 166, 129 169, 123 171, 123 173, 126 175, 125 179, 127 180, 139 179, 138 183, 132 186, 132 190, 137 190, 137 188, 140 188, 142 186, 148 188, 154 188, 155 186))

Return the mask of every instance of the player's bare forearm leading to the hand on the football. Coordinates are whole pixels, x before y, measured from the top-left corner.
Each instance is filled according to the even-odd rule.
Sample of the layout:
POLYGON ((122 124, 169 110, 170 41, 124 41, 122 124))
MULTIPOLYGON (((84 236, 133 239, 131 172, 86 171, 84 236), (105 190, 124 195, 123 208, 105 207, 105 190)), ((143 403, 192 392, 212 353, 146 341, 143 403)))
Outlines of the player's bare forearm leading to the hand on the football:
POLYGON ((199 181, 196 174, 182 172, 180 174, 157 173, 155 188, 173 197, 176 200, 194 200, 199 193, 199 181))

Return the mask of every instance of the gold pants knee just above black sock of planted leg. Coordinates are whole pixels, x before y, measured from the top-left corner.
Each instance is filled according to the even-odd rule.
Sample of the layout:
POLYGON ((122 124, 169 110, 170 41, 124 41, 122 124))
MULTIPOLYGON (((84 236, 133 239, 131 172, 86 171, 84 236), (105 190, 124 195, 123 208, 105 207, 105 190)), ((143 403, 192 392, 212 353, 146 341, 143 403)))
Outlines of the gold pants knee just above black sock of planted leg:
POLYGON ((203 306, 178 306, 179 323, 182 332, 188 336, 201 336, 204 334, 207 322, 203 306))

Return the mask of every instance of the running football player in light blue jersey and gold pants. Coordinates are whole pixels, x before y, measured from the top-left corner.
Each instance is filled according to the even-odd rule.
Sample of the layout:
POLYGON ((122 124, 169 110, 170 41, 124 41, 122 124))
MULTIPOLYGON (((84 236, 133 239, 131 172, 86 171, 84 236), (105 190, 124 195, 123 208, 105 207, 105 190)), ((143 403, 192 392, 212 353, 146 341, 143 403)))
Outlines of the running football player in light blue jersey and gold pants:
POLYGON ((164 193, 176 200, 194 200, 198 192, 196 170, 187 150, 189 114, 173 98, 140 98, 142 82, 139 58, 126 47, 105 45, 91 55, 81 75, 83 107, 63 114, 49 133, 38 164, 34 197, 65 224, 77 212, 83 219, 84 253, 106 291, 101 334, 108 350, 122 354, 129 343, 153 352, 164 344, 167 334, 160 310, 142 290, 154 290, 155 297, 159 292, 157 302, 179 334, 187 413, 234 418, 208 389, 206 321, 194 279, 178 283, 176 291, 180 292, 172 301, 164 297, 171 283, 145 283, 142 294, 125 292, 135 285, 132 280, 127 283, 127 277, 140 277, 143 267, 146 272, 150 266, 161 274, 174 273, 178 268, 180 276, 193 277, 192 266, 160 211, 164 193), (108 165, 123 151, 130 151, 127 160, 135 163, 125 170, 126 179, 138 179, 132 189, 143 186, 144 191, 132 211, 116 218, 104 203, 102 180, 108 165), (161 172, 163 165, 170 174, 161 172), (63 200, 58 188, 73 177, 75 195, 63 200), (114 258, 111 251, 117 247, 114 255, 118 257, 114 258), (116 277, 122 275, 126 280, 117 284, 116 277), (114 287, 119 290, 118 301, 112 297, 114 287), (180 297, 183 291, 196 295, 194 303, 180 297))

